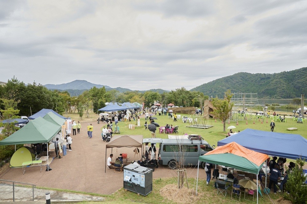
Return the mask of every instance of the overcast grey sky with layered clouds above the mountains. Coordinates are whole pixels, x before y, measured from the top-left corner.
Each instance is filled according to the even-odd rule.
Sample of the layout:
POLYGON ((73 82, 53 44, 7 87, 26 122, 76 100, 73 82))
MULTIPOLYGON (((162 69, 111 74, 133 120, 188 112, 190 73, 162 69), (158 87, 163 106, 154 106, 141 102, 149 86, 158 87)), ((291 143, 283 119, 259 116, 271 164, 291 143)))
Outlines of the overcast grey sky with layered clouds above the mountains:
POLYGON ((0 81, 189 90, 306 66, 306 0, 0 0, 0 81))

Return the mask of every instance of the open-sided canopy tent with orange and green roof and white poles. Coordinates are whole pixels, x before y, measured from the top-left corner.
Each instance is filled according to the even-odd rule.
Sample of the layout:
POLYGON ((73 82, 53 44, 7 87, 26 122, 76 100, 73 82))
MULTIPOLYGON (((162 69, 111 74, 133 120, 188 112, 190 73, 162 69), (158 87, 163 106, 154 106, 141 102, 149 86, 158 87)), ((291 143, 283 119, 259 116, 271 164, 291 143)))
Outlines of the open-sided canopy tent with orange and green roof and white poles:
POLYGON ((235 142, 231 142, 224 146, 217 147, 216 149, 207 152, 205 155, 199 156, 197 167, 196 195, 200 162, 218 164, 256 174, 258 186, 258 172, 260 171, 263 163, 268 158, 268 155, 249 150, 235 142))

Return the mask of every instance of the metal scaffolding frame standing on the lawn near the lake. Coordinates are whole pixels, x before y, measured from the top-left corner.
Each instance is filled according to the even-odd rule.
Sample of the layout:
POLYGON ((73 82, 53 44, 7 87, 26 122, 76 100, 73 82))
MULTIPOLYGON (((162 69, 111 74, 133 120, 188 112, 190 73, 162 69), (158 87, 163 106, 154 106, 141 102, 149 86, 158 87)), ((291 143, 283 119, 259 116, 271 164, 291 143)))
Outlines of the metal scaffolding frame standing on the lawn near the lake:
POLYGON ((258 103, 258 93, 231 93, 231 102, 234 104, 228 120, 251 120, 252 113, 255 113, 258 103))

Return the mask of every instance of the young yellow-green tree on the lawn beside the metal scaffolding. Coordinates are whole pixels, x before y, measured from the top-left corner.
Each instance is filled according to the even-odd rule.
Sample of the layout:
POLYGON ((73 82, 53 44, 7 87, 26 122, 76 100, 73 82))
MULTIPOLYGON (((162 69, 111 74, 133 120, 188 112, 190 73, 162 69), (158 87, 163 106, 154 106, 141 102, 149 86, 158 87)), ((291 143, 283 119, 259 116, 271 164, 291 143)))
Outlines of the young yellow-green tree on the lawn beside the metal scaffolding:
POLYGON ((225 92, 224 99, 213 98, 212 105, 216 108, 213 110, 213 115, 223 121, 223 131, 226 131, 226 120, 231 114, 233 103, 230 102, 232 94, 228 89, 225 92))

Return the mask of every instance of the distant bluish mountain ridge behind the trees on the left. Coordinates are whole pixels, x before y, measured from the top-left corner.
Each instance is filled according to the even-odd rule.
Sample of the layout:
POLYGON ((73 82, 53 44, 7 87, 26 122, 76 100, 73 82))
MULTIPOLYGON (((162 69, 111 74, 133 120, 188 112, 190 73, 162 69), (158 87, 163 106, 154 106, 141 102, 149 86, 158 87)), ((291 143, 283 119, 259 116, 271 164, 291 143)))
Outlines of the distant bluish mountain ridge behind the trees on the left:
MULTIPOLYGON (((121 87, 111 88, 110 86, 106 86, 106 85, 93 84, 93 83, 88 82, 86 80, 74 80, 72 82, 68 82, 68 83, 65 83, 65 84, 45 84, 44 86, 46 88, 50 89, 50 90, 68 91, 68 93, 70 93, 72 96, 76 96, 76 95, 79 96, 85 90, 89 90, 89 89, 93 88, 94 86, 96 88, 105 87, 106 91, 110 91, 112 89, 115 89, 115 90, 118 90, 121 93, 127 92, 127 91, 133 91, 129 88, 121 88, 121 87)), ((163 92, 170 92, 170 91, 163 90, 163 89, 150 89, 148 91, 158 92, 160 94, 163 93, 163 92)), ((138 92, 144 93, 146 91, 138 91, 138 92)))

